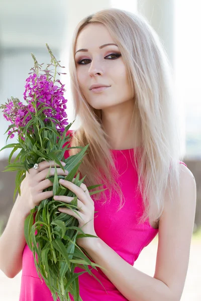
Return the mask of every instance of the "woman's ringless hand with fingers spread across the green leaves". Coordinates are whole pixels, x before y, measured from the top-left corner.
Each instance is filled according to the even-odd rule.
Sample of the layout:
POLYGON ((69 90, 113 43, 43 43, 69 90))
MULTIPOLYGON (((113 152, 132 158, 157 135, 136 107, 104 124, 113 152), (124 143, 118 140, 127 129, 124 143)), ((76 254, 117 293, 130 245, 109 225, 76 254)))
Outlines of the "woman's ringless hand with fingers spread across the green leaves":
MULTIPOLYGON (((73 179, 72 182, 74 182, 74 180, 75 180, 75 178, 73 179)), ((58 210, 60 212, 74 216, 79 221, 79 227, 82 229, 82 231, 85 234, 91 234, 91 235, 97 236, 95 233, 95 230, 94 230, 94 223, 93 223, 94 202, 89 195, 88 189, 87 189, 86 185, 83 183, 80 185, 80 187, 78 187, 77 185, 73 184, 72 182, 66 181, 66 180, 63 180, 63 182, 62 182, 61 179, 59 180, 59 183, 62 186, 68 188, 70 191, 72 191, 73 193, 76 194, 77 208, 79 210, 77 212, 81 218, 74 211, 72 211, 69 208, 59 207, 58 210)), ((54 196, 54 200, 65 202, 65 203, 70 203, 73 199, 74 199, 74 197, 54 196)), ((76 243, 80 247, 84 248, 90 243, 91 239, 93 240, 96 238, 93 238, 93 237, 77 238, 76 243)))

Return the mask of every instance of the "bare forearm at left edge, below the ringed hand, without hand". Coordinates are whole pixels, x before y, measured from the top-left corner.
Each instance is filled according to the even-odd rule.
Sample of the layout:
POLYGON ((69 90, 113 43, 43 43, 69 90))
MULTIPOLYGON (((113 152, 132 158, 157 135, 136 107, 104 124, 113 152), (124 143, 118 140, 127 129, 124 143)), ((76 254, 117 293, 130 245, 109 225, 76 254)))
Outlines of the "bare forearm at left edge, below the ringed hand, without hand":
POLYGON ((18 195, 7 226, 0 237, 0 269, 9 278, 15 277, 22 269, 22 254, 26 244, 24 222, 27 215, 20 207, 18 195))

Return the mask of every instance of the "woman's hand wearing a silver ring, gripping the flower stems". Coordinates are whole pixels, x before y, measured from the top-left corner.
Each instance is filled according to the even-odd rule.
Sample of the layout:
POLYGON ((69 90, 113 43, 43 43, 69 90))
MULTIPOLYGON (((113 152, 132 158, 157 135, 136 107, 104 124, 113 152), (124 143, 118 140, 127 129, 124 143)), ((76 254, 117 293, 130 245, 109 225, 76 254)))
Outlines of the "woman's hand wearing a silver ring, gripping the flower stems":
MULTIPOLYGON (((26 215, 30 214, 30 211, 35 208, 35 206, 38 206, 41 201, 53 197, 53 191, 46 191, 43 192, 43 190, 47 189, 50 186, 53 186, 53 183, 45 179, 50 166, 54 166, 56 164, 54 161, 43 161, 39 163, 39 168, 29 169, 29 173, 26 172, 26 177, 21 183, 21 195, 18 195, 18 201, 19 206, 21 210, 24 211, 26 215)), ((57 168, 57 174, 66 176, 68 172, 66 173, 59 167, 58 164, 56 164, 57 168)), ((52 167, 50 170, 49 177, 54 176, 55 174, 55 168, 52 167)))

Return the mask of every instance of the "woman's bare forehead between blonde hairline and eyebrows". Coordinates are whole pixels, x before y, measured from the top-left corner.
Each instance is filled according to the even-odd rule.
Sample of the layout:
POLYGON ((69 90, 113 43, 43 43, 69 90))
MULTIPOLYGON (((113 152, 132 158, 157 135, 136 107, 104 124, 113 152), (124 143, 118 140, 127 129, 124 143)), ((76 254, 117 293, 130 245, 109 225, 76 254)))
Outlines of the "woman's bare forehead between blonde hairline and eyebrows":
POLYGON ((75 52, 80 48, 98 48, 107 43, 115 42, 104 24, 87 24, 77 37, 75 52))

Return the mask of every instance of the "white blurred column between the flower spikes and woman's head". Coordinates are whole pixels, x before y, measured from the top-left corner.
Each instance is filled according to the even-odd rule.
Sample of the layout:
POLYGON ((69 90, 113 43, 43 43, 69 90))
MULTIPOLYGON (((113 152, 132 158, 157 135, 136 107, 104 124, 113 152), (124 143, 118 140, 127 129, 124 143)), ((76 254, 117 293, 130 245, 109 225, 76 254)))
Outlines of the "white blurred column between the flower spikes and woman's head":
MULTIPOLYGON (((61 52, 61 63, 62 66, 66 68, 62 72, 67 73, 67 75, 61 75, 61 81, 65 84, 65 98, 67 98, 67 115, 68 122, 72 122, 74 118, 74 107, 72 102, 72 94, 70 89, 70 76, 68 74, 68 59, 69 59, 69 46, 72 42, 72 35, 74 33, 75 27, 77 24, 86 16, 95 13, 96 11, 110 8, 110 0, 102 1, 93 1, 93 0, 77 0, 77 1, 68 1, 67 2, 67 11, 66 11, 66 34, 64 35, 64 41, 62 45, 61 52)), ((79 126, 78 120, 75 121, 71 129, 76 129, 79 126)))

